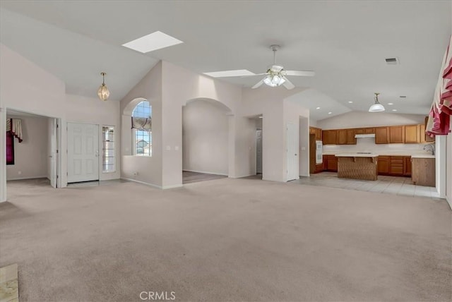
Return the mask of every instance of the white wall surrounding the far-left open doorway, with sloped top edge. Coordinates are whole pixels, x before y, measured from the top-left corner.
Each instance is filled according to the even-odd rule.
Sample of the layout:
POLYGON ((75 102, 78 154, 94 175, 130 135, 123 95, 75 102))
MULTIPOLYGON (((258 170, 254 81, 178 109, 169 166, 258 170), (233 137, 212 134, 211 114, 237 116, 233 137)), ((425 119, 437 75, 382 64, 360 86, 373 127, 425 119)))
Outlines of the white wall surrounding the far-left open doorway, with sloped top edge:
MULTIPOLYGON (((0 44, 0 202, 6 200, 6 108, 66 118, 65 85, 54 75, 0 44)), ((63 131, 64 132, 64 131, 63 131)), ((61 135, 66 150, 66 133, 61 135)), ((67 159, 61 153, 60 187, 65 186, 67 159)))

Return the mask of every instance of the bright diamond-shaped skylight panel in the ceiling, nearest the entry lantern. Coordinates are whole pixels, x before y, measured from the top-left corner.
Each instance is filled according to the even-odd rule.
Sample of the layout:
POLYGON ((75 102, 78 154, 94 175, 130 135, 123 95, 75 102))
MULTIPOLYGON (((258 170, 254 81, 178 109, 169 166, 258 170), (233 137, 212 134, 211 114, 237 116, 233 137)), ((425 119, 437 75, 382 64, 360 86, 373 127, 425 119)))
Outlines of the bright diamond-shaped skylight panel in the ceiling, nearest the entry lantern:
POLYGON ((177 40, 175 37, 171 37, 163 32, 153 32, 152 34, 145 35, 122 46, 136 50, 137 52, 152 52, 153 50, 162 49, 172 45, 184 43, 181 40, 177 40))

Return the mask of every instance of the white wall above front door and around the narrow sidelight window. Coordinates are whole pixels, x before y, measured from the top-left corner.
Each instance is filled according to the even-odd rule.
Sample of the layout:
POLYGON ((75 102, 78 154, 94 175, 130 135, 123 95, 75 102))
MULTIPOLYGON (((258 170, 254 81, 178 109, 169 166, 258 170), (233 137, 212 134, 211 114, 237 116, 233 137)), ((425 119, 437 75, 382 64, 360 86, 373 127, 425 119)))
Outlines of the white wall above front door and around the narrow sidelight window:
MULTIPOLYGON (((101 101, 97 97, 82 97, 80 95, 66 95, 66 121, 71 123, 92 123, 99 125, 99 179, 119 179, 121 176, 121 123, 119 102, 101 101), (116 171, 102 172, 102 126, 114 126, 116 171)), ((63 129, 66 130, 66 127, 63 129)))

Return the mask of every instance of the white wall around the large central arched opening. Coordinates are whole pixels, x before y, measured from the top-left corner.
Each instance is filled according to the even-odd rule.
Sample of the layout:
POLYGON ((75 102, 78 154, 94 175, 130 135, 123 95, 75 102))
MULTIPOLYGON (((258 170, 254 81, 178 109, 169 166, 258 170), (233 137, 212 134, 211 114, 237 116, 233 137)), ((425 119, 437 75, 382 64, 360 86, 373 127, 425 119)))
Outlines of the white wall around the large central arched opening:
MULTIPOLYGON (((213 99, 236 113, 242 88, 162 61, 162 187, 182 186, 182 106, 192 99, 213 99), (174 87, 177 87, 175 89, 174 87)), ((231 116, 231 119, 234 118, 231 116)), ((232 125, 234 126, 234 122, 232 125)), ((237 132, 230 129, 231 143, 237 132)), ((233 143, 232 143, 233 144, 233 143)), ((232 151, 230 145, 229 150, 232 151)), ((229 155, 230 176, 236 176, 234 154, 229 155)))

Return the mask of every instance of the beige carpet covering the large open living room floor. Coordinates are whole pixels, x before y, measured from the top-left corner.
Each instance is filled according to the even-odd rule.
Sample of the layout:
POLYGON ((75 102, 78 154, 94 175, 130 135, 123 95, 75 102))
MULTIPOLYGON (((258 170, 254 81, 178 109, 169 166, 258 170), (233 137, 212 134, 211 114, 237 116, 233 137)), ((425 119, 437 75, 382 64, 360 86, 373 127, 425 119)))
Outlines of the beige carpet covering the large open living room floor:
POLYGON ((20 301, 451 301, 444 200, 219 179, 8 183, 0 266, 20 301))

